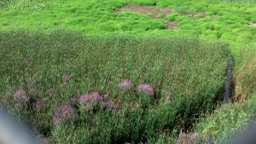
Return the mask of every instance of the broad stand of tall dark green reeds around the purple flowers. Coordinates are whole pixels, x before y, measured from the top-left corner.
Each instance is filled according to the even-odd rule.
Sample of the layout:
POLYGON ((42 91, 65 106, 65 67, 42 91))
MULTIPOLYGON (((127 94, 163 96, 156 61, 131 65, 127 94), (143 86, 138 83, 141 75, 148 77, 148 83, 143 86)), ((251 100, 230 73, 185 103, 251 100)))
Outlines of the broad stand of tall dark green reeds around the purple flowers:
POLYGON ((54 143, 157 142, 221 101, 228 49, 191 36, 0 32, 1 102, 54 143), (126 79, 131 89, 120 87, 126 79), (113 107, 87 107, 80 96, 92 92, 108 94, 113 107), (54 124, 55 109, 66 105, 72 117, 54 124))

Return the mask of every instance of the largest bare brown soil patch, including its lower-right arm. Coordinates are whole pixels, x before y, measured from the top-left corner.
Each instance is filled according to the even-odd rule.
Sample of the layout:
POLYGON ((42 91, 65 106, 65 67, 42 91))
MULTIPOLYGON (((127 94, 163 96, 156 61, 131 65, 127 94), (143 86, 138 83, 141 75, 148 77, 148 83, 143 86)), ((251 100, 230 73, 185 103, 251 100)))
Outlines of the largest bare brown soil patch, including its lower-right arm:
MULTIPOLYGON (((130 10, 132 12, 138 12, 140 14, 152 14, 152 19, 159 19, 158 14, 164 14, 164 16, 173 13, 170 8, 158 8, 155 6, 145 6, 145 5, 133 5, 129 4, 126 7, 122 7, 115 12, 123 12, 130 10)), ((167 18, 161 18, 166 24, 167 29, 178 29, 179 25, 176 22, 168 21, 167 18)))

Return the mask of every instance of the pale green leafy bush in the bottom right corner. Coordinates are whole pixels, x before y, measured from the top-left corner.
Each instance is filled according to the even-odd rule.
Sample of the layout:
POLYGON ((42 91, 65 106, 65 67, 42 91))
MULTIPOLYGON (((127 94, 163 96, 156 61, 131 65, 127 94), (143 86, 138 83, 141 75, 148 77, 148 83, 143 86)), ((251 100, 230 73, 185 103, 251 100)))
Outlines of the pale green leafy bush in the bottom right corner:
POLYGON ((199 133, 203 142, 210 135, 214 143, 226 143, 230 137, 241 133, 248 126, 251 116, 252 113, 243 105, 222 105, 214 114, 196 124, 195 132, 199 133))

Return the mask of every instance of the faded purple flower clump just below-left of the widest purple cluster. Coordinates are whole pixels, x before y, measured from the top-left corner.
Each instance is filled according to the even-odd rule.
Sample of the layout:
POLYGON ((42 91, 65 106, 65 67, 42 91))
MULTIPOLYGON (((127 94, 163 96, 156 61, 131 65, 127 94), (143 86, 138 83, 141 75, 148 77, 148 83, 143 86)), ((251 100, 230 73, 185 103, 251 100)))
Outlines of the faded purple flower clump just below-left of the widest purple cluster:
POLYGON ((53 112, 53 123, 56 125, 63 123, 65 121, 70 120, 71 118, 76 117, 77 113, 72 108, 74 104, 73 99, 65 104, 61 105, 61 107, 57 107, 53 112))

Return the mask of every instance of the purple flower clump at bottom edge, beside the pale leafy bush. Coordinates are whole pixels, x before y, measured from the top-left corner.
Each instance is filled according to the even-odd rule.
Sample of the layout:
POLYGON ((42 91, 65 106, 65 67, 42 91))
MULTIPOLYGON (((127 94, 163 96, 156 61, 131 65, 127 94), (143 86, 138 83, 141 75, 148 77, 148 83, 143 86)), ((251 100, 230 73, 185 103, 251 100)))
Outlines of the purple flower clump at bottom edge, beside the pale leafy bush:
POLYGON ((200 143, 201 137, 197 133, 186 134, 183 130, 180 130, 176 144, 185 144, 185 143, 200 143))

